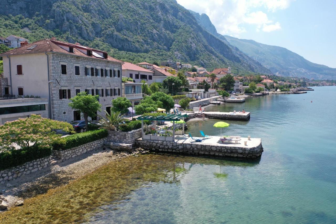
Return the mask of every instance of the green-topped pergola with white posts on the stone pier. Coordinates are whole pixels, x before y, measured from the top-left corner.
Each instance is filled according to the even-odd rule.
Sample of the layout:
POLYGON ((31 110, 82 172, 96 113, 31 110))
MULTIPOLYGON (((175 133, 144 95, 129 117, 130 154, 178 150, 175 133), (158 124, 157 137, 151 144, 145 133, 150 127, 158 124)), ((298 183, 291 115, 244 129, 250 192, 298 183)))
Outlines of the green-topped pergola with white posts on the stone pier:
MULTIPOLYGON (((144 120, 153 120, 153 121, 172 121, 173 122, 173 141, 175 142, 175 122, 179 120, 184 120, 185 117, 188 117, 186 113, 183 114, 164 114, 160 116, 139 116, 136 119, 141 120, 141 138, 143 139, 143 121, 144 120)), ((184 133, 184 125, 182 125, 182 131, 184 133)))

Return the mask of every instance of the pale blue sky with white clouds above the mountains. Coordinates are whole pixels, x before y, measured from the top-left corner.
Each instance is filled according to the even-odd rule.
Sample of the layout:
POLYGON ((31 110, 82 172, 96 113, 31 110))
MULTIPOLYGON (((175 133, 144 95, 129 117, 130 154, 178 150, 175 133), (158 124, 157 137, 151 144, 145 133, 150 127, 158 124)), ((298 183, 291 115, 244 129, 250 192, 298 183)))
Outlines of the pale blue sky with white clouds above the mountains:
POLYGON ((336 0, 177 0, 206 13, 217 32, 285 47, 336 68, 336 0))

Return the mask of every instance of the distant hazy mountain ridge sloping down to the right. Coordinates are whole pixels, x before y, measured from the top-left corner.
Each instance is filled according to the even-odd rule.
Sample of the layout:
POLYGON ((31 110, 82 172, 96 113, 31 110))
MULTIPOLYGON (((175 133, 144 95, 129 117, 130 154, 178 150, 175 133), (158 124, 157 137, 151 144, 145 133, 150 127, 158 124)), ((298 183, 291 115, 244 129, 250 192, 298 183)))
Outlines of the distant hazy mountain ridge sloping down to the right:
POLYGON ((284 47, 271 46, 258 43, 254 40, 238 39, 218 34, 206 14, 190 11, 196 21, 211 34, 217 36, 227 45, 239 48, 252 59, 260 62, 272 73, 281 76, 305 77, 321 79, 336 79, 336 69, 325 65, 319 65, 304 59, 284 47))

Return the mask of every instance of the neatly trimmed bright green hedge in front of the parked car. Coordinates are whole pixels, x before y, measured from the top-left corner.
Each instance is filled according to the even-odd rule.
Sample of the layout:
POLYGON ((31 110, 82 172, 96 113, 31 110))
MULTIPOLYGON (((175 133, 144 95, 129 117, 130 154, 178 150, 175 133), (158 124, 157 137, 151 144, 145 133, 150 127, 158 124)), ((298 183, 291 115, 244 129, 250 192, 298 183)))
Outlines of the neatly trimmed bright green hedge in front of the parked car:
POLYGON ((75 135, 69 135, 67 137, 64 137, 66 141, 65 145, 55 144, 53 145, 52 149, 54 150, 71 149, 76 146, 84 145, 86 143, 105 138, 108 136, 108 134, 109 134, 108 130, 98 129, 98 130, 91 130, 88 132, 78 133, 75 135))

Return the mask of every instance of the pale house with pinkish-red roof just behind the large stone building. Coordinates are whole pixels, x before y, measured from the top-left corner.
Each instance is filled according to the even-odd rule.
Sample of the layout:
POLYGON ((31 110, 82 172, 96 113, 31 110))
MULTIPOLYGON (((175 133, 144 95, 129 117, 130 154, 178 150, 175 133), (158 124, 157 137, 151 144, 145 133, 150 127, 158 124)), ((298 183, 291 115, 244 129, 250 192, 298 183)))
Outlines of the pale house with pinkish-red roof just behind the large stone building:
POLYGON ((132 78, 137 83, 141 83, 141 80, 145 80, 148 84, 154 82, 153 71, 134 65, 130 62, 124 62, 122 65, 122 74, 124 77, 132 78))

